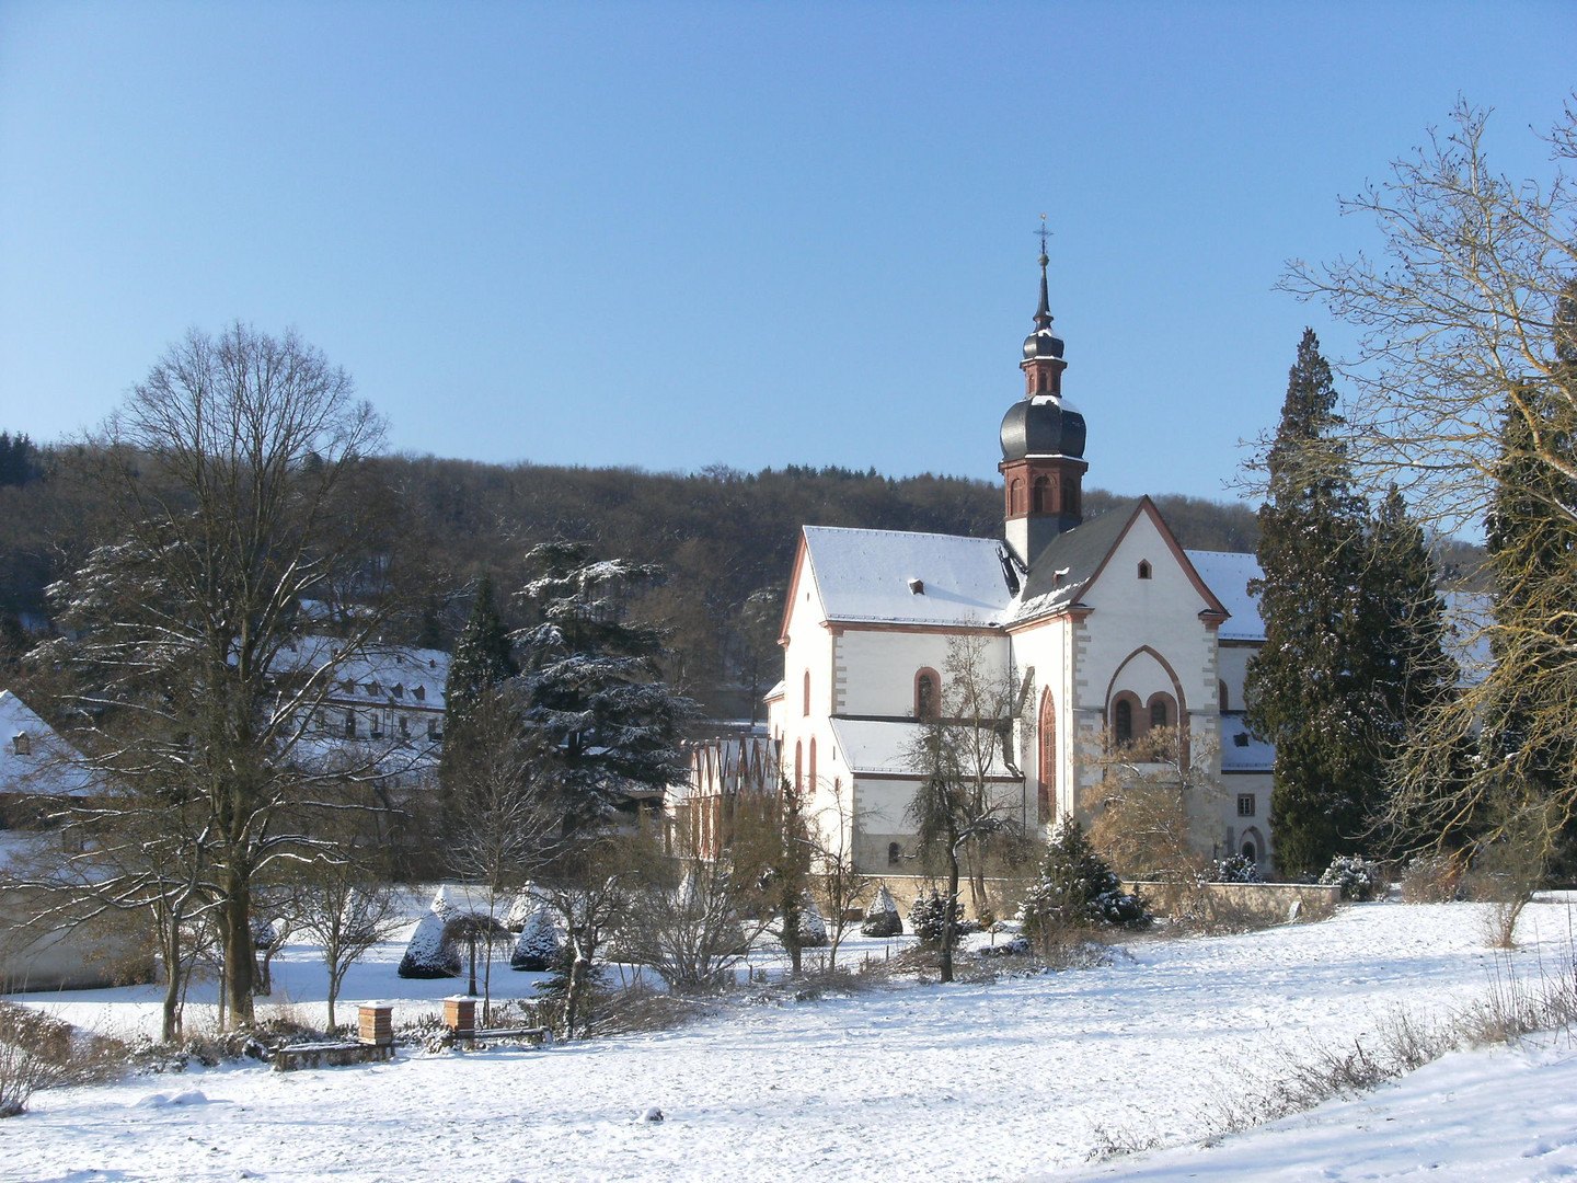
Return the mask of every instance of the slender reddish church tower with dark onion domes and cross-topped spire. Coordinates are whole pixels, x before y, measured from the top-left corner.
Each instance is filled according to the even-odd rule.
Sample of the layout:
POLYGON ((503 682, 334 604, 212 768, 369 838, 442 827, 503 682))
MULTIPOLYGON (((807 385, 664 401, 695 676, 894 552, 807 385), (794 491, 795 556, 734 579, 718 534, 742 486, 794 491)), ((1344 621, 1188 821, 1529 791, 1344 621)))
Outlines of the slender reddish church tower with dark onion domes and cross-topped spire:
POLYGON ((1005 533, 1019 562, 1028 566, 1046 544, 1083 521, 1085 421, 1063 399, 1063 339, 1052 331, 1046 290, 1046 222, 1041 221, 1041 304, 1035 331, 1023 339, 1023 399, 1001 421, 1005 533))

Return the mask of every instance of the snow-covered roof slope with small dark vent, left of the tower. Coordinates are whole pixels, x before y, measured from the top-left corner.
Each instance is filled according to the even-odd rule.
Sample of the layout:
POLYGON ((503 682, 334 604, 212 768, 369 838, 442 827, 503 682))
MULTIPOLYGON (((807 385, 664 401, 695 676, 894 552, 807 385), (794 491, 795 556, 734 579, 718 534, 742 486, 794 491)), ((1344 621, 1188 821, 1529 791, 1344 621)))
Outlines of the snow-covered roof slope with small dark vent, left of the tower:
POLYGON ((804 527, 828 620, 1000 625, 1012 604, 994 538, 804 527))

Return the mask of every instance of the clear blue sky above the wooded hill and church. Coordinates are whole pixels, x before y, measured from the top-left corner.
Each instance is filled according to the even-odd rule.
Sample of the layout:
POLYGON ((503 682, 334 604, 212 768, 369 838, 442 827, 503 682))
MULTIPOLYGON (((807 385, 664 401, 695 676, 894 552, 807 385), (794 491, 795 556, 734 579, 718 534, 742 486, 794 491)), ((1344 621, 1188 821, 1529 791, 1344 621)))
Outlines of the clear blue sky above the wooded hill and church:
POLYGON ((1091 486, 1227 495, 1336 199, 1572 3, 3 3, 0 429, 295 325, 402 451, 997 480, 1044 211, 1091 486))

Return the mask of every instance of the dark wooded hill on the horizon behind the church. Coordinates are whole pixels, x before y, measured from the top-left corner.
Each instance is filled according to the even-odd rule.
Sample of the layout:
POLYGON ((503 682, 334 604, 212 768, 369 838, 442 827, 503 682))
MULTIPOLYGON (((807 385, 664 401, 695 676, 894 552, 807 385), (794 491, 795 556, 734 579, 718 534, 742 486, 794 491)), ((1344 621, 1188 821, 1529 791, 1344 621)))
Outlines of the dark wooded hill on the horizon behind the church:
MULTIPOLYGON (((602 555, 667 568, 665 582, 631 607, 673 629, 670 677, 727 715, 747 713, 746 703, 781 677, 777 623, 801 525, 1001 533, 1000 487, 953 476, 804 467, 680 475, 413 456, 374 464, 402 517, 391 571, 413 603, 427 606, 412 615, 412 639, 423 633, 448 644, 478 576, 519 587, 520 560, 535 543, 582 539, 602 555)), ((73 468, 71 456, 46 451, 24 483, 0 487, 0 610, 13 621, 47 612, 43 588, 80 563, 103 521, 73 468)), ((1087 491, 1085 516, 1117 500, 1087 491)), ((1246 506, 1156 502, 1186 547, 1254 547, 1257 524, 1246 506)))

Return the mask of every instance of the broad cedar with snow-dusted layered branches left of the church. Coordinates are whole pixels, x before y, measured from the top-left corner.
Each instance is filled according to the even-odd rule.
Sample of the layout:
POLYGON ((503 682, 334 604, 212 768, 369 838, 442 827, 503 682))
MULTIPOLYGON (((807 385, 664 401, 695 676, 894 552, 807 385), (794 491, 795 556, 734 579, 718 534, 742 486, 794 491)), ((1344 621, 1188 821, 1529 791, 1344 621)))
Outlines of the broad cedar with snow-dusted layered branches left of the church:
POLYGON ((684 781, 680 730, 694 705, 662 681, 662 631, 624 612, 659 568, 593 562, 580 543, 546 543, 527 563, 538 573, 519 593, 530 623, 514 634, 525 722, 550 759, 565 833, 587 833, 628 790, 684 781))

